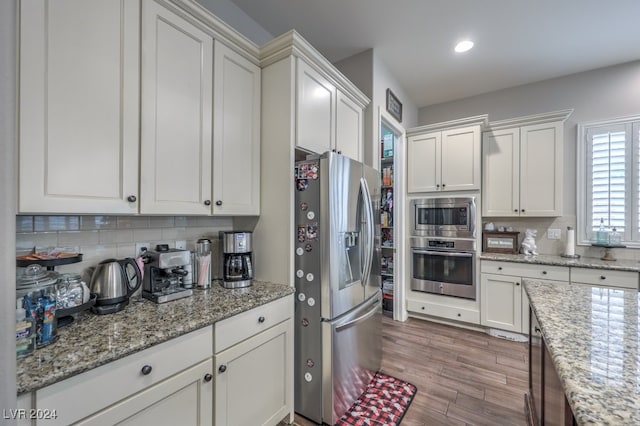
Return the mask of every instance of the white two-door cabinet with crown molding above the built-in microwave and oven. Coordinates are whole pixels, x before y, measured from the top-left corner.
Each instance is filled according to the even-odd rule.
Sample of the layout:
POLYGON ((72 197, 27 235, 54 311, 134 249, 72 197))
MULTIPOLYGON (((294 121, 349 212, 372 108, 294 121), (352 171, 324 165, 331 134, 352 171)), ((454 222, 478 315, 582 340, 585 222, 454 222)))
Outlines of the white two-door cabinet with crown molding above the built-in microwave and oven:
POLYGON ((480 189, 486 115, 407 130, 407 192, 480 189))

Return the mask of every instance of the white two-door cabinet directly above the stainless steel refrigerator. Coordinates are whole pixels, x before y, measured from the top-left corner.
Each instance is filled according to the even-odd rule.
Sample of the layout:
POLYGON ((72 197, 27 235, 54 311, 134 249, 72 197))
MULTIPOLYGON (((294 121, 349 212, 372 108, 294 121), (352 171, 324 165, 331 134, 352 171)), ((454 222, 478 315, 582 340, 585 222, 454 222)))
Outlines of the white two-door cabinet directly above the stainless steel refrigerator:
POLYGON ((297 61, 296 146, 362 160, 364 108, 302 59, 297 61))

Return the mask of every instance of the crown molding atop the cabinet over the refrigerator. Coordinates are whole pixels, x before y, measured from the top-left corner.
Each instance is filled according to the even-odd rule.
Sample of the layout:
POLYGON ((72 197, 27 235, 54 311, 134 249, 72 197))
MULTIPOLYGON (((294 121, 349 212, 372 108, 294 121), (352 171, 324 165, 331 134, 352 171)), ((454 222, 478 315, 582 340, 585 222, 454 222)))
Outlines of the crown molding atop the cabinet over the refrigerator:
POLYGON ((296 30, 290 30, 260 47, 260 66, 265 68, 289 56, 295 56, 307 62, 360 107, 366 108, 371 102, 357 86, 296 30))

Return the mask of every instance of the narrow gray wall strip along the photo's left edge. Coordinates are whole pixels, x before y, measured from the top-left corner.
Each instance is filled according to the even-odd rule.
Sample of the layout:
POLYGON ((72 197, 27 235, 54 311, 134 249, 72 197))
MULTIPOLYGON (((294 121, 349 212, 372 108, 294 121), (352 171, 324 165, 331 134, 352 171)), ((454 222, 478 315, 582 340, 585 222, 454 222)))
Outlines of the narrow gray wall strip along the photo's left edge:
POLYGON ((16 408, 16 307, 9 297, 15 294, 16 266, 16 16, 16 0, 0 2, 0 407, 7 413, 16 408))

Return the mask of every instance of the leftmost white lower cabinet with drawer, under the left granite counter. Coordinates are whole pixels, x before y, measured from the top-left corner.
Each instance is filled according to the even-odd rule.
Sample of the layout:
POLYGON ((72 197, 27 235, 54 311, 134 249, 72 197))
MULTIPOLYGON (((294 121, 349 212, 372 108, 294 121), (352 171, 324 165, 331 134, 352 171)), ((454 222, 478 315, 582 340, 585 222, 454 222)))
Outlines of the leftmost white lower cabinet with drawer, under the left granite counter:
POLYGON ((212 348, 204 327, 38 389, 34 407, 56 418, 35 424, 210 425, 212 348))

